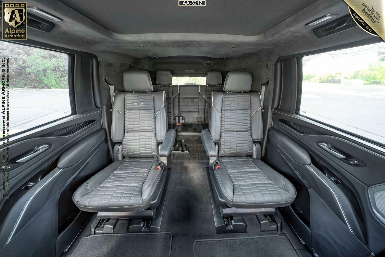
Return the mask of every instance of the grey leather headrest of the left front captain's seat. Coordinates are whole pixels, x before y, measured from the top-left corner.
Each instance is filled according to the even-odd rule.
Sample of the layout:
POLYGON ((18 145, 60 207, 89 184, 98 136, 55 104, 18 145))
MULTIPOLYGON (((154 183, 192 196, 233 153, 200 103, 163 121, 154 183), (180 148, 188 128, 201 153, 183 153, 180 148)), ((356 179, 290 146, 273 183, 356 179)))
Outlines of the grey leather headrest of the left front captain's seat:
POLYGON ((123 87, 127 92, 152 92, 151 77, 145 70, 123 72, 123 87))

